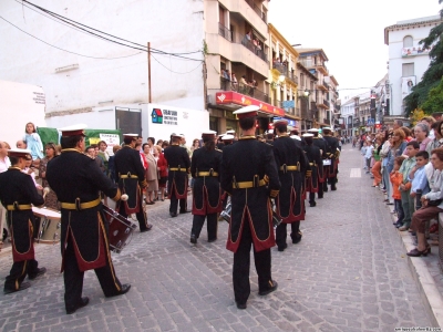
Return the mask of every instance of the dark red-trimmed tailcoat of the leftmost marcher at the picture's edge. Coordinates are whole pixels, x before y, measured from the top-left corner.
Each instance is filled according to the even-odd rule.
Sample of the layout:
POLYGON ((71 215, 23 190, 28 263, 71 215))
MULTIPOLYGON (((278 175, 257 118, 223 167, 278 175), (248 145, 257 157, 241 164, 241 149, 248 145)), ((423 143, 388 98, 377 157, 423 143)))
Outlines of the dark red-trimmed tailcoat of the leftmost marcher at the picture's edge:
MULTIPOLYGON (((7 207, 17 201, 19 205, 42 206, 44 199, 37 193, 35 185, 28 174, 18 167, 10 167, 0 174, 0 200, 7 207)), ((34 259, 33 227, 34 215, 31 209, 7 211, 11 228, 12 259, 14 262, 34 259)))

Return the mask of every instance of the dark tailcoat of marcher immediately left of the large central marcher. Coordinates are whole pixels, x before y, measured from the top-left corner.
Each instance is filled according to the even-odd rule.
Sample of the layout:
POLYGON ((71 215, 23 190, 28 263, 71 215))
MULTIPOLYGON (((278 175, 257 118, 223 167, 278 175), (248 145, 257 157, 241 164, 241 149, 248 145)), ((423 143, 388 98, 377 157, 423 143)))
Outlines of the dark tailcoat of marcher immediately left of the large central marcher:
POLYGON ((208 151, 200 147, 194 151, 190 160, 190 175, 195 179, 193 187, 193 215, 206 216, 222 212, 220 188, 222 151, 208 151), (212 172, 218 176, 199 176, 198 173, 212 172))

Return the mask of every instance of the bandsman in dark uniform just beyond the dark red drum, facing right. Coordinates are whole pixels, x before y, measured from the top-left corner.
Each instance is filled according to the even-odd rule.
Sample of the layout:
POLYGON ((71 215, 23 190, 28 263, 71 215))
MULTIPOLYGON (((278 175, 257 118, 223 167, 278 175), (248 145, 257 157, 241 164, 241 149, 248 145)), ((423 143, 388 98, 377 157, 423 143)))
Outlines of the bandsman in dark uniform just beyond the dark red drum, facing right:
POLYGON ((142 190, 147 187, 147 181, 140 152, 134 148, 137 139, 140 139, 137 134, 124 134, 124 146, 117 151, 114 157, 119 188, 122 194, 127 194, 130 197, 127 201, 117 201, 116 210, 123 217, 135 214, 140 231, 144 232, 151 230, 152 225, 147 222, 146 211, 143 207, 142 190))

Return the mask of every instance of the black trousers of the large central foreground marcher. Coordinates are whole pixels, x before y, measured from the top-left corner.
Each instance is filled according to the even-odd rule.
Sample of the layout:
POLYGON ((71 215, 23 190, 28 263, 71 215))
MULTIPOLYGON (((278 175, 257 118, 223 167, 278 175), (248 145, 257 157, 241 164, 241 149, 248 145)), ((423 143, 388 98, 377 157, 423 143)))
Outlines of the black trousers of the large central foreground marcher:
MULTIPOLYGON (((233 283, 234 295, 238 303, 246 303, 250 294, 249 267, 250 267, 250 247, 253 236, 250 234, 249 221, 245 220, 241 234, 240 245, 237 252, 234 253, 233 283)), ((258 274, 258 288, 260 291, 270 287, 270 249, 262 251, 254 250, 254 261, 258 274)))

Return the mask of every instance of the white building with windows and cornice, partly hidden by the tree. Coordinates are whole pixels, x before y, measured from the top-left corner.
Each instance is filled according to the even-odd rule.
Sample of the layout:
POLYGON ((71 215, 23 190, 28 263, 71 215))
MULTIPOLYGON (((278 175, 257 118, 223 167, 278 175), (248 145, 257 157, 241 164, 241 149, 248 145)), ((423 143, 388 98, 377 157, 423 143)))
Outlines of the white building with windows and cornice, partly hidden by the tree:
POLYGON ((384 28, 384 43, 389 48, 387 110, 392 116, 403 116, 403 98, 416 85, 430 64, 430 49, 419 42, 432 28, 442 22, 440 15, 399 21, 384 28))

